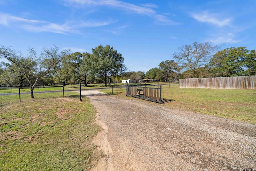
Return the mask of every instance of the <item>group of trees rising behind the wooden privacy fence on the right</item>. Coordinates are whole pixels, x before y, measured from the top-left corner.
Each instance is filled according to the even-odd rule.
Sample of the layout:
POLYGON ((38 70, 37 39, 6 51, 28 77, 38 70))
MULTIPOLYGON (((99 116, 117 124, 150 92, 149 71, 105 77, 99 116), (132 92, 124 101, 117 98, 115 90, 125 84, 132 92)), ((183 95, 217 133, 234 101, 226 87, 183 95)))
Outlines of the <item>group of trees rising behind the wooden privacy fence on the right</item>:
POLYGON ((184 78, 209 78, 256 75, 256 51, 246 47, 219 50, 210 42, 184 45, 166 60, 146 72, 148 79, 178 81, 184 78), (218 52, 217 52, 218 51, 218 52), (217 52, 217 53, 216 53, 217 52))

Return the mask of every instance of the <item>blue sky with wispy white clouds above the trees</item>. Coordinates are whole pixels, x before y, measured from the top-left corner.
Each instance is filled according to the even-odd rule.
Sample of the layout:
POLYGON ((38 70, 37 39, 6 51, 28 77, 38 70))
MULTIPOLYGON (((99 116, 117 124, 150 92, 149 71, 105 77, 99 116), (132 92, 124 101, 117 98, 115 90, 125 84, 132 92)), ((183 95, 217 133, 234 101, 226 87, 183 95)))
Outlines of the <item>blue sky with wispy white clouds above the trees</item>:
POLYGON ((109 44, 128 71, 146 72, 195 41, 256 49, 255 9, 256 0, 0 0, 0 45, 26 55, 109 44))

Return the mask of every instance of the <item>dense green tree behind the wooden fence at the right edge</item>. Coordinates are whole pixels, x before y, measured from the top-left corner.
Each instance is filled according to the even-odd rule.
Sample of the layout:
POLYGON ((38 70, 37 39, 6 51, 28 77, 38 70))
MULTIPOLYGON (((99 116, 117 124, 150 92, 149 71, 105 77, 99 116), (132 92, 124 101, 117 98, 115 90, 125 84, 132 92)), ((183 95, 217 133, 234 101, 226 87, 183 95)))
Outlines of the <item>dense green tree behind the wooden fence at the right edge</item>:
POLYGON ((256 53, 245 47, 227 48, 217 52, 208 64, 213 77, 248 76, 256 74, 256 53))

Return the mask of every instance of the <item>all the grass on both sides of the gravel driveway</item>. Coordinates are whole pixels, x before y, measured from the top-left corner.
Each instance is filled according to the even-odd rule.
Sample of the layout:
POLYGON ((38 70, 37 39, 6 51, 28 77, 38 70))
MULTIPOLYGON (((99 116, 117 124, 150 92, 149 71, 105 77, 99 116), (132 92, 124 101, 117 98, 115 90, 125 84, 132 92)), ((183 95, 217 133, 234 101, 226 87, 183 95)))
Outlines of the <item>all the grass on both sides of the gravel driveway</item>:
MULTIPOLYGON (((112 89, 101 91, 112 94, 112 89)), ((96 111, 86 98, 80 102, 78 93, 69 93, 72 98, 45 93, 0 105, 0 170, 80 171, 95 165, 103 156, 91 143, 101 130, 94 124, 96 111)), ((113 93, 136 99, 126 97, 125 88, 113 88, 113 93)), ((136 100, 256 124, 255 90, 181 89, 171 84, 162 85, 162 97, 174 101, 136 100)))

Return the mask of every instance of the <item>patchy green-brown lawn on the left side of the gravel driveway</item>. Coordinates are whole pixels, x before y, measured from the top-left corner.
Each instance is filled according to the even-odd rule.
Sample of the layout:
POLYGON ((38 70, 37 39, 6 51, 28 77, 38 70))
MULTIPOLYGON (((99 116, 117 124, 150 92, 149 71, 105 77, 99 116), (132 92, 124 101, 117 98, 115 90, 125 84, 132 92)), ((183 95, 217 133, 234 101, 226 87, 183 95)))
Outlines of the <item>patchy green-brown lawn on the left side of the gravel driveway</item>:
POLYGON ((35 99, 0 107, 0 170, 90 170, 102 157, 95 109, 73 99, 35 99))

